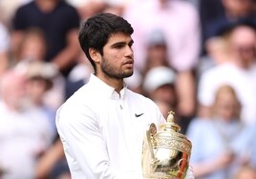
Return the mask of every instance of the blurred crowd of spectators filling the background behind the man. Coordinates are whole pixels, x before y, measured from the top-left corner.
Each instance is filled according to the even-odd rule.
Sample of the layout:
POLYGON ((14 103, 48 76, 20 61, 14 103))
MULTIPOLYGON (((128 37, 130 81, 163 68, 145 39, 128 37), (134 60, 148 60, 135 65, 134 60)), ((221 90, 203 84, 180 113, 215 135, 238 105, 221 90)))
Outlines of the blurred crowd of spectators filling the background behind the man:
POLYGON ((255 0, 2 0, 0 11, 1 179, 71 178, 54 116, 93 72, 77 30, 102 11, 134 28, 125 83, 175 111, 195 177, 256 179, 255 0))

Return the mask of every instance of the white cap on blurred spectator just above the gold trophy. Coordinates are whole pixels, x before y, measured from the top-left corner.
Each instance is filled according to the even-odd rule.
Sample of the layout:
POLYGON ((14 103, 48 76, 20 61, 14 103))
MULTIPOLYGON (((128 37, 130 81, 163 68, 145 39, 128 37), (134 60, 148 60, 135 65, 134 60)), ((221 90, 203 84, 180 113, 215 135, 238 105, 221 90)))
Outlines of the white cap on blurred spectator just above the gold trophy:
POLYGON ((143 89, 151 92, 163 85, 174 84, 176 73, 167 67, 156 67, 149 70, 144 78, 143 89))

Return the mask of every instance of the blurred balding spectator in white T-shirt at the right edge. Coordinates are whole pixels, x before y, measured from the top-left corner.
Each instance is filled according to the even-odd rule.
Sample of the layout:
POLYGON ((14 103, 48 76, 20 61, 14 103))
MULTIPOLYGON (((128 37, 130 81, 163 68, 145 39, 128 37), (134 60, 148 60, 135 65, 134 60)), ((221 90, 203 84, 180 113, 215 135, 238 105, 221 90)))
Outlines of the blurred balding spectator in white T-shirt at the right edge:
POLYGON ((246 123, 256 122, 256 62, 255 26, 244 21, 231 24, 227 35, 228 59, 225 63, 205 70, 199 79, 199 115, 208 117, 216 90, 228 84, 232 86, 242 103, 242 119, 246 123))

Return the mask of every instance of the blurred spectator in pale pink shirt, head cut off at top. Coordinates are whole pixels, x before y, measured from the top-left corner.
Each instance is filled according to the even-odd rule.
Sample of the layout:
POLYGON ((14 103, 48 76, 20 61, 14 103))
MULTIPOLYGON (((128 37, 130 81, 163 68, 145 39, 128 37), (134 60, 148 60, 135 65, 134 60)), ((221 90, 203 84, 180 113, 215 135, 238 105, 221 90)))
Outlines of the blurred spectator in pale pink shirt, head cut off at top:
POLYGON ((177 113, 191 118, 196 104, 193 70, 200 53, 200 19, 197 9, 191 3, 179 0, 136 1, 124 9, 123 17, 135 29, 135 66, 140 71, 146 64, 147 37, 152 30, 162 30, 167 44, 168 63, 177 71, 177 113))

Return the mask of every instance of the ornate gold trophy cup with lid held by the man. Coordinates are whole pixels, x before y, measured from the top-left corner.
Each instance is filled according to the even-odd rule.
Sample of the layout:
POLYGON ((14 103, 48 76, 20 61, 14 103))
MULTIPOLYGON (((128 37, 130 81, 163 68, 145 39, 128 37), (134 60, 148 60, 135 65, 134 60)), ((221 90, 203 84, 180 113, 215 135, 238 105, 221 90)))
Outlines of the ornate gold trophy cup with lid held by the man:
POLYGON ((180 126, 174 122, 172 111, 159 131, 154 123, 150 125, 143 142, 144 179, 185 178, 192 144, 180 130, 180 126))

